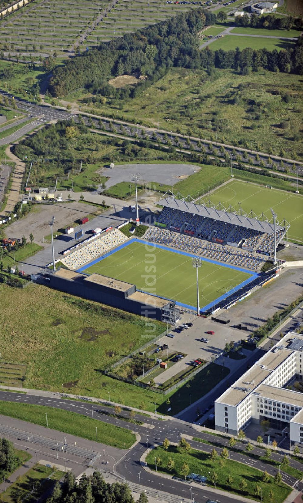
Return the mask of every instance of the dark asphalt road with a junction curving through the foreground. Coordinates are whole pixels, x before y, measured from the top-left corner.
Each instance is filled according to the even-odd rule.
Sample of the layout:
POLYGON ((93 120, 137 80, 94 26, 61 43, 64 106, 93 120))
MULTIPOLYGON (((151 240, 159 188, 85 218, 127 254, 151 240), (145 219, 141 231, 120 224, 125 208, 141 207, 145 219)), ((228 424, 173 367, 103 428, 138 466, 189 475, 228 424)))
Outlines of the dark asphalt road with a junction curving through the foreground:
MULTIPOLYGON (((116 459, 116 465, 115 465, 116 472, 122 477, 125 477, 127 480, 130 480, 134 483, 138 483, 138 473, 141 470, 141 483, 143 485, 153 487, 159 490, 166 490, 171 494, 183 495, 184 497, 188 497, 188 487, 183 482, 170 480, 168 484, 165 483, 165 480, 163 480, 161 476, 142 470, 142 463, 140 459, 142 454, 147 448, 147 439, 149 443, 149 448, 151 446, 161 444, 165 437, 167 437, 167 439, 171 443, 176 443, 179 441, 181 434, 190 437, 195 436, 197 438, 205 439, 210 442, 222 444, 225 446, 228 445, 228 438, 224 439, 220 437, 214 437, 213 435, 210 435, 207 432, 197 431, 197 429, 193 428, 193 426, 190 423, 185 423, 175 418, 167 421, 165 420, 159 421, 156 418, 149 418, 147 416, 141 416, 140 414, 136 414, 135 419, 137 421, 144 422, 144 425, 138 426, 128 424, 125 421, 119 420, 116 417, 109 416, 108 414, 112 413, 113 409, 105 404, 95 405, 87 402, 72 401, 64 399, 64 397, 62 396, 54 398, 44 395, 39 396, 39 395, 18 394, 11 392, 8 393, 6 391, 0 391, 0 400, 47 405, 52 406, 54 408, 73 411, 82 415, 86 415, 88 417, 91 417, 91 414, 93 413, 93 417, 96 420, 114 424, 116 426, 121 426, 124 428, 126 428, 127 426, 129 429, 132 429, 133 431, 135 431, 137 434, 140 435, 140 441, 138 444, 135 444, 131 449, 129 449, 125 453, 123 458, 120 459, 120 461, 117 461, 116 459)), ((122 412, 122 415, 127 417, 128 413, 122 412)), ((33 425, 30 425, 29 428, 32 429, 33 425)), ((207 444, 200 444, 193 441, 190 441, 190 443, 194 448, 204 450, 206 452, 209 452, 213 448, 212 446, 207 444)), ((245 445, 237 444, 237 448, 240 449, 240 451, 243 451, 243 453, 245 452, 245 445)), ((220 449, 219 446, 218 449, 220 449)), ((262 451, 260 448, 256 447, 253 451, 253 454, 255 455, 264 454, 264 450, 262 451)), ((248 456, 242 454, 241 452, 239 453, 233 451, 230 452, 230 455, 232 459, 236 461, 249 463, 262 470, 266 469, 268 473, 270 473, 271 475, 274 475, 276 473, 276 469, 273 468, 270 464, 263 462, 262 464, 260 464, 260 462, 249 458, 248 456)), ((282 454, 273 453, 272 459, 281 462, 282 454)), ((301 469, 301 464, 299 462, 290 459, 289 463, 290 466, 293 466, 294 468, 297 469, 301 469)), ((285 483, 288 483, 289 485, 293 485, 296 482, 294 477, 290 477, 284 472, 283 473, 281 472, 281 475, 283 481, 285 483)), ((196 494, 195 496, 196 500, 203 500, 201 498, 204 498, 205 496, 211 497, 212 495, 212 492, 209 492, 208 494, 208 490, 206 488, 203 489, 195 488, 194 490, 196 494)), ((234 501, 234 499, 227 495, 226 497, 224 496, 223 499, 220 497, 220 501, 230 503, 234 501)))

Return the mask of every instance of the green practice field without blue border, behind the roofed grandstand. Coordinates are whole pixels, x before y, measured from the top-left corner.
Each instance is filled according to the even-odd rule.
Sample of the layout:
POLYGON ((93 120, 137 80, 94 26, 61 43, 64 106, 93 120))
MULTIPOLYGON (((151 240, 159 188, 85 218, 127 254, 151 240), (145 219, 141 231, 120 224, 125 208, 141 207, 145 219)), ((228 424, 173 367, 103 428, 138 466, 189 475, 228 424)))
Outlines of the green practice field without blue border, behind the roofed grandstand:
POLYGON ((299 194, 232 180, 212 193, 210 199, 214 204, 221 202, 226 208, 231 204, 235 209, 240 202, 246 213, 253 210, 259 217, 263 211, 268 219, 272 218, 272 208, 281 223, 285 218, 290 224, 288 239, 303 242, 303 197, 299 194))

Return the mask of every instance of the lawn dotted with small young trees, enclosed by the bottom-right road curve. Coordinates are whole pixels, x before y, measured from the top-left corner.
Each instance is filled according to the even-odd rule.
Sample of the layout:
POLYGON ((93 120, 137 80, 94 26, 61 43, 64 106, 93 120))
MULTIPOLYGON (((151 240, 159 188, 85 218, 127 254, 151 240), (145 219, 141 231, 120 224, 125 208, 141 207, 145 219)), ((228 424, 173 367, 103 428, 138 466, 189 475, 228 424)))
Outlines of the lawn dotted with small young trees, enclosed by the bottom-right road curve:
MULTIPOLYGON (((209 480, 209 472, 211 472, 211 480, 214 473, 217 474, 216 487, 233 492, 242 497, 249 497, 260 501, 260 496, 254 494, 254 489, 256 485, 262 487, 262 498, 264 501, 269 501, 269 491, 272 490, 274 493, 273 501, 277 503, 282 503, 284 499, 291 492, 291 488, 284 484, 277 484, 274 482, 273 477, 270 477, 269 483, 262 482, 262 471, 256 470, 249 465, 238 463, 237 461, 232 461, 230 459, 222 460, 211 460, 209 454, 197 451, 195 449, 190 449, 188 453, 179 447, 169 446, 167 451, 163 447, 157 447, 153 449, 147 456, 146 461, 152 470, 155 469, 155 456, 161 458, 161 464, 157 464, 158 471, 168 473, 170 475, 182 476, 181 467, 186 463, 189 467, 189 473, 198 473, 203 475, 209 480), (174 461, 174 468, 169 471, 167 468, 167 463, 169 459, 174 461), (228 476, 232 478, 232 481, 228 483, 228 476), (247 487, 245 490, 240 489, 240 483, 245 480, 247 487)), ((183 477, 184 478, 184 477, 183 477)), ((214 485, 214 482, 212 482, 214 485)))

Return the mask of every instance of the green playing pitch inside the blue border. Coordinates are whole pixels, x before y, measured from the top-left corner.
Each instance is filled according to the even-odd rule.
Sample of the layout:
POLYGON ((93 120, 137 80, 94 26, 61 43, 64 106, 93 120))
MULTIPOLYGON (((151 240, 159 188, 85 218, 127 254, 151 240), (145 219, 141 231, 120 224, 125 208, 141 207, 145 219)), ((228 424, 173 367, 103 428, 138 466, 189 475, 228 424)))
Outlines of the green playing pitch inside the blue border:
MULTIPOLYGON (((196 273, 191 257, 161 248, 150 249, 151 246, 146 249, 145 244, 140 242, 130 243, 84 272, 126 281, 140 290, 194 306, 196 273)), ((209 304, 250 276, 249 273, 203 261, 199 269, 200 306, 209 304)))

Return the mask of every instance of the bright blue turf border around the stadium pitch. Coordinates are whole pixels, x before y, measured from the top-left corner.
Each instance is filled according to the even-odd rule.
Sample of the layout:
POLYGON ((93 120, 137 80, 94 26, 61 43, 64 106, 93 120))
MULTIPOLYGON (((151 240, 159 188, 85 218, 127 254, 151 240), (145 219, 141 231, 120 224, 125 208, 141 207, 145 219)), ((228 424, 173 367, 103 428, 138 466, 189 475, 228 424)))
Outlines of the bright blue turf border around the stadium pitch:
MULTIPOLYGON (((98 257, 97 259, 93 260, 92 262, 89 262, 89 264, 86 264, 85 266, 80 267, 79 269, 77 269, 77 273, 82 273, 83 271, 85 271, 85 269, 88 269, 89 267, 94 266, 98 262, 101 262, 102 260, 104 260, 107 257, 110 257, 111 255, 113 255, 114 253, 116 253, 116 251, 119 251, 119 250, 125 248, 126 246, 129 246, 130 244, 132 244, 134 242, 136 242, 136 243, 139 242, 139 243, 147 244, 147 245, 155 247, 155 248, 160 248, 160 249, 164 249, 166 251, 171 251, 172 253, 176 253, 176 254, 179 254, 179 255, 184 255, 185 257, 196 257, 195 254, 189 253, 188 251, 183 251, 183 250, 178 250, 178 249, 174 249, 174 248, 169 248, 168 246, 165 246, 164 244, 154 243, 152 241, 146 241, 145 239, 140 239, 140 238, 137 238, 137 237, 132 237, 130 240, 124 241, 122 244, 120 244, 119 246, 117 246, 117 248, 114 248, 113 250, 108 251, 105 255, 102 255, 102 257, 98 257)), ((217 304, 219 305, 219 303, 222 300, 226 299, 232 293, 235 293, 238 290, 240 290, 241 288, 243 288, 244 286, 248 285, 249 283, 251 283, 252 281, 254 281, 256 278, 258 278, 258 276, 259 276, 258 273, 252 273, 248 269, 243 269, 242 267, 233 266, 232 264, 223 264, 222 262, 218 262, 218 261, 212 260, 212 259, 207 259, 207 258, 204 258, 204 257, 201 257, 201 261, 203 261, 203 262, 209 262, 210 264, 215 264, 216 266, 227 267, 227 268, 233 269, 235 271, 240 271, 242 273, 250 274, 250 278, 247 278, 247 280, 242 281, 242 283, 240 283, 239 285, 237 285, 232 290, 229 290, 227 293, 221 295, 217 299, 213 300, 213 302, 210 302, 206 306, 203 306, 202 308, 200 308, 200 312, 201 311, 207 311, 210 308, 216 307, 216 305, 217 304)), ((144 290, 139 290, 138 289, 138 291, 139 292, 147 293, 148 295, 154 295, 154 294, 151 294, 149 292, 145 292, 144 290)), ((154 296, 155 297, 159 297, 160 299, 167 299, 167 297, 162 297, 161 295, 154 295, 154 296)), ((167 300, 172 300, 172 299, 167 299, 167 300)), ((180 307, 185 307, 187 309, 196 309, 195 306, 190 306, 188 304, 183 304, 182 302, 178 302, 178 301, 175 301, 175 302, 180 307)))

